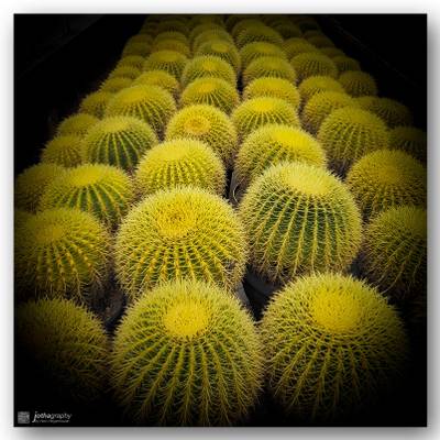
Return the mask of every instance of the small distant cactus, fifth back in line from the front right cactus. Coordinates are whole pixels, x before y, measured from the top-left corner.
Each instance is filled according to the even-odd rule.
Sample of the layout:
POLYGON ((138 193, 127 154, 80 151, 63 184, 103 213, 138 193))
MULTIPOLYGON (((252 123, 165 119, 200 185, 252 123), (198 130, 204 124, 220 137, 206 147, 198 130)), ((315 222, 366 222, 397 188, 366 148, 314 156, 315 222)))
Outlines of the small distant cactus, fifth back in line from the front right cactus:
POLYGON ((263 77, 251 81, 243 91, 243 99, 260 97, 279 98, 287 101, 295 109, 299 107, 298 89, 284 78, 263 77))

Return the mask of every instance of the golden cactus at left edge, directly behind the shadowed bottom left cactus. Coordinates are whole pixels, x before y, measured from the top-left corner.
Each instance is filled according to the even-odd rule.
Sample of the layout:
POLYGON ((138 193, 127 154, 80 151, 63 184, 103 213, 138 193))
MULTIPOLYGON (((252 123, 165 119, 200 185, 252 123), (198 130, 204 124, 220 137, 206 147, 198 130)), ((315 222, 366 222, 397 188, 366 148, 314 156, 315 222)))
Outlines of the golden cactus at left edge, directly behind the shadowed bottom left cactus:
POLYGON ((108 276, 110 237, 78 209, 47 209, 21 223, 15 240, 15 279, 28 295, 85 302, 108 276))

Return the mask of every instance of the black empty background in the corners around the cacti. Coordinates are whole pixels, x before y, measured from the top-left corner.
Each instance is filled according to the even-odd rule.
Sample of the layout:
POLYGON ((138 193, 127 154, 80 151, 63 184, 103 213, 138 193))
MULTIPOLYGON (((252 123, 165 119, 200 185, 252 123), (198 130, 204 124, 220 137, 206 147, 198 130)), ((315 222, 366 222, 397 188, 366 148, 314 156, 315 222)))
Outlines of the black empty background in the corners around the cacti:
MULTIPOLYGON (((315 15, 324 33, 361 62, 378 82, 380 95, 410 107, 416 125, 427 124, 427 15, 315 15)), ((97 89, 119 59, 125 41, 143 15, 15 15, 14 20, 14 169, 38 161, 40 150, 81 98, 97 89)), ((248 292, 246 292, 248 293, 248 292)), ((426 333, 416 349, 404 386, 397 394, 342 420, 341 426, 425 426, 427 411, 426 333)), ((123 426, 110 395, 76 407, 54 396, 45 373, 30 370, 32 360, 15 351, 14 411, 74 413, 70 425, 123 426), (29 372, 32 371, 32 374, 29 372)), ((15 417, 14 415, 14 417, 15 417)), ((286 419, 267 396, 248 422, 253 426, 305 426, 286 419)))

